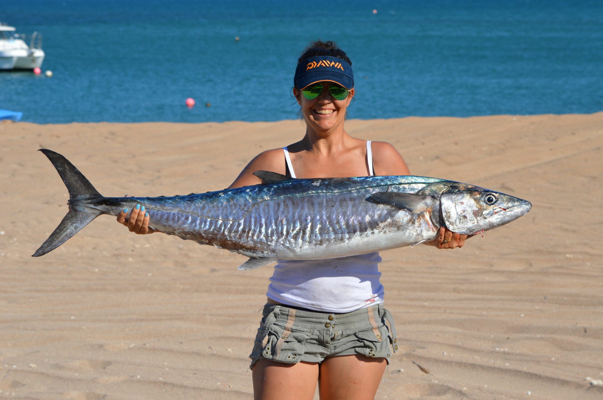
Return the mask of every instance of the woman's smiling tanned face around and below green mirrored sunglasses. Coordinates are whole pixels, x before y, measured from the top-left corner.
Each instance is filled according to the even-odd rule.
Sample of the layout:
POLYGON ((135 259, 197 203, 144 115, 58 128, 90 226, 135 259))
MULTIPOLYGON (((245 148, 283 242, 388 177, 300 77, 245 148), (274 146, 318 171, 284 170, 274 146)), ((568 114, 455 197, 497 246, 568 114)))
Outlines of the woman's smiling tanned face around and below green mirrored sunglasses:
POLYGON ((324 84, 323 91, 315 99, 306 99, 298 88, 293 88, 293 94, 301 106, 301 112, 308 128, 312 127, 315 131, 329 131, 335 126, 343 125, 347 106, 354 96, 354 88, 350 89, 347 99, 335 100, 327 88, 327 85, 333 84, 333 82, 321 83, 324 84))

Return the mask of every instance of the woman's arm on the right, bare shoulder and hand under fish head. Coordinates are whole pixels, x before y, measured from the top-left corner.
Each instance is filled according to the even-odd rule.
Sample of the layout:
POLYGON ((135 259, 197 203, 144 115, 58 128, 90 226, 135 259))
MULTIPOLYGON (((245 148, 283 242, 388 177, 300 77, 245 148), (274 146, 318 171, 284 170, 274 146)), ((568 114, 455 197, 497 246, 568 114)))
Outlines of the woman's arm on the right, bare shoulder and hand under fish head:
MULTIPOLYGON (((394 146, 387 142, 372 142, 373 167, 375 175, 410 175, 406 162, 394 146)), ((463 247, 467 235, 459 235, 446 227, 441 227, 434 241, 424 242, 437 248, 463 247), (444 239, 447 242, 444 242, 444 239)))

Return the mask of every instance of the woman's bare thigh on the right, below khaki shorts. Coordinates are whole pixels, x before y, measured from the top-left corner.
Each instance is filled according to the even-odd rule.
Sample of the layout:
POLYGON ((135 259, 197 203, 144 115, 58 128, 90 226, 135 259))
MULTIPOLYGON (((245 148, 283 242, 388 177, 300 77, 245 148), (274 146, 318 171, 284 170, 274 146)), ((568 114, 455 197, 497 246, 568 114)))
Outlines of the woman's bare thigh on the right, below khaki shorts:
POLYGON ((320 398, 373 400, 385 366, 385 358, 370 358, 359 354, 327 357, 320 365, 320 398))

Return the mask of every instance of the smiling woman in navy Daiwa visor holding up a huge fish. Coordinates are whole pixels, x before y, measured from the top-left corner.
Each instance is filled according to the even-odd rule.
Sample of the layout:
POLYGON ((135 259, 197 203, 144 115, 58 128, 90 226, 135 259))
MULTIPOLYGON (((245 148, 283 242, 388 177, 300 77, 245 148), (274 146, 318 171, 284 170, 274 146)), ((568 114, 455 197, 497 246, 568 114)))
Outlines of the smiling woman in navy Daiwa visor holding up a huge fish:
MULTIPOLYGON (((354 92, 346 53, 333 42, 311 43, 298 59, 293 88, 305 136, 257 155, 229 188, 261 183, 253 175, 258 170, 297 178, 410 175, 391 144, 346 133, 354 92)), ((129 221, 126 215, 119 214, 118 222, 130 231, 153 232, 144 209, 134 209, 129 221)), ((429 244, 463 247, 465 239, 441 228, 429 244)), ((250 355, 256 399, 312 399, 317 382, 321 398, 374 399, 390 345, 397 351, 393 320, 382 306, 380 260, 370 253, 277 263, 250 355)))

